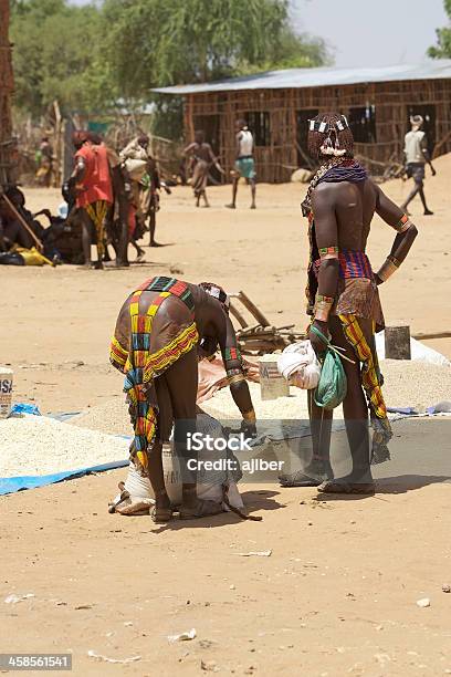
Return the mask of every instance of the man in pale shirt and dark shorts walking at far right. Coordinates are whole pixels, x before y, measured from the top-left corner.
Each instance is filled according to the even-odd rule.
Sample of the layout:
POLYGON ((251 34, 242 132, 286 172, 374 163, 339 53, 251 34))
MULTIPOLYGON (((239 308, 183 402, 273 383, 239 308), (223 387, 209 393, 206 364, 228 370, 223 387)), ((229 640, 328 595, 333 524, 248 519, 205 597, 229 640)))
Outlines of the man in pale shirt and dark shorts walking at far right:
POLYGON ((421 115, 412 115, 410 117, 411 131, 405 136, 405 158, 406 158, 406 175, 407 178, 412 178, 415 187, 409 192, 407 200, 402 205, 402 209, 406 213, 409 213, 407 206, 418 194, 420 196, 422 206, 424 208, 424 216, 431 216, 433 211, 428 209, 424 196, 424 165, 431 168, 432 176, 436 176, 436 169, 432 167, 432 163, 428 150, 428 140, 426 133, 421 129, 423 118, 421 115))

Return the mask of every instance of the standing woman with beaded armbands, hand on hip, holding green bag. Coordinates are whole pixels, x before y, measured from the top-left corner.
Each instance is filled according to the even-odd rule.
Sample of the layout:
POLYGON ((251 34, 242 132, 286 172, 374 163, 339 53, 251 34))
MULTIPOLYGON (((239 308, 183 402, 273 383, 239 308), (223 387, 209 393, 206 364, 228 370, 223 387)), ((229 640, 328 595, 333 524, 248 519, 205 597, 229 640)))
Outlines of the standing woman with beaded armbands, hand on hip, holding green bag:
POLYGON ((398 271, 417 228, 354 159, 353 145, 344 115, 328 113, 310 121, 308 149, 321 166, 302 205, 310 236, 306 293, 307 313, 313 320, 308 337, 319 356, 326 345, 317 332, 332 337, 348 357, 343 362, 347 377, 343 410, 352 471, 333 478, 333 413, 318 407, 310 390, 312 460, 303 471, 281 481, 285 486, 319 486, 319 491, 327 492, 373 493, 370 462, 390 458, 387 442, 391 437, 375 347, 375 331, 384 329, 378 285, 398 271), (391 251, 377 273, 365 251, 375 213, 396 232, 391 251), (368 412, 374 429, 371 450, 368 412))

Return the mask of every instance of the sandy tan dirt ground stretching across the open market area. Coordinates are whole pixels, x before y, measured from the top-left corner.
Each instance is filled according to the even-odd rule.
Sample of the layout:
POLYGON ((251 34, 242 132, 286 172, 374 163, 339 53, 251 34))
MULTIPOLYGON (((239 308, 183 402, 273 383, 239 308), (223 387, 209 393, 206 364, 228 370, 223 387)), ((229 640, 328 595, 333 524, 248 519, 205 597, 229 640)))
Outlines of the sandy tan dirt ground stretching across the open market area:
MULTIPOLYGON (((434 216, 412 205, 420 235, 381 289, 387 324, 411 332, 450 329, 449 180, 436 163, 426 191, 434 216)), ((408 187, 386 185, 401 201, 408 187)), ((209 190, 195 209, 188 188, 162 196, 147 263, 128 270, 0 269, 0 362, 14 369, 14 399, 43 413, 81 410, 120 396, 108 366, 116 313, 147 277, 172 273, 244 290, 279 325, 304 327, 305 187, 209 190)), ((29 207, 53 209, 56 191, 30 189, 29 207)), ((378 219, 369 256, 379 265, 394 232, 378 219)), ((451 357, 451 342, 428 342, 451 357)), ((421 384, 418 384, 421 388, 421 384)), ((451 396, 450 396, 451 399, 451 396)), ((445 445, 421 421, 399 424, 417 452, 445 445), (415 434, 412 434, 412 430, 415 434)), ((448 438, 447 438, 448 439, 448 438)), ((0 451, 8 454, 1 447, 0 451)), ((403 676, 451 674, 450 485, 424 470, 394 470, 361 500, 315 499, 314 490, 243 487, 263 522, 220 515, 157 528, 149 518, 106 512, 123 471, 0 498, 2 652, 72 652, 75 675, 403 676), (448 527, 447 527, 448 524, 448 527), (269 558, 240 552, 272 550, 269 558), (4 604, 7 595, 35 596, 4 604), (416 602, 430 598, 430 607, 416 602), (167 635, 195 627, 197 637, 167 635), (6 639, 8 638, 8 639, 6 639), (109 659, 139 656, 113 664, 109 659)))

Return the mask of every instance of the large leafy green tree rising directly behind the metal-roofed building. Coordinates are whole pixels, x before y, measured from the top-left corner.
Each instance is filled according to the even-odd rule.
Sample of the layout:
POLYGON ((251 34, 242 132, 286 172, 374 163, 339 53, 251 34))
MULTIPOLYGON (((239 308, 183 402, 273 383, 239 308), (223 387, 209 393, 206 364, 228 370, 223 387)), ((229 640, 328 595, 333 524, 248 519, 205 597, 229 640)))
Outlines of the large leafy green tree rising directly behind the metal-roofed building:
POLYGON ((289 65, 321 65, 321 40, 293 33, 286 0, 106 0, 105 45, 125 95, 289 65))

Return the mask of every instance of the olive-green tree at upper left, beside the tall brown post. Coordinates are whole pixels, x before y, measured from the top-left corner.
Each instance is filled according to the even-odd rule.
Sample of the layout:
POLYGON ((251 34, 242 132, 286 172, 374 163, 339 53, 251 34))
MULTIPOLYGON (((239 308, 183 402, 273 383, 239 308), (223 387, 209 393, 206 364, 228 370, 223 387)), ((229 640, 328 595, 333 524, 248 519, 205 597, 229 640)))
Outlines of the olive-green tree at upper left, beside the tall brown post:
POLYGON ((103 107, 114 85, 99 59, 99 24, 95 6, 15 0, 11 21, 15 104, 34 116, 54 100, 70 111, 103 107))

